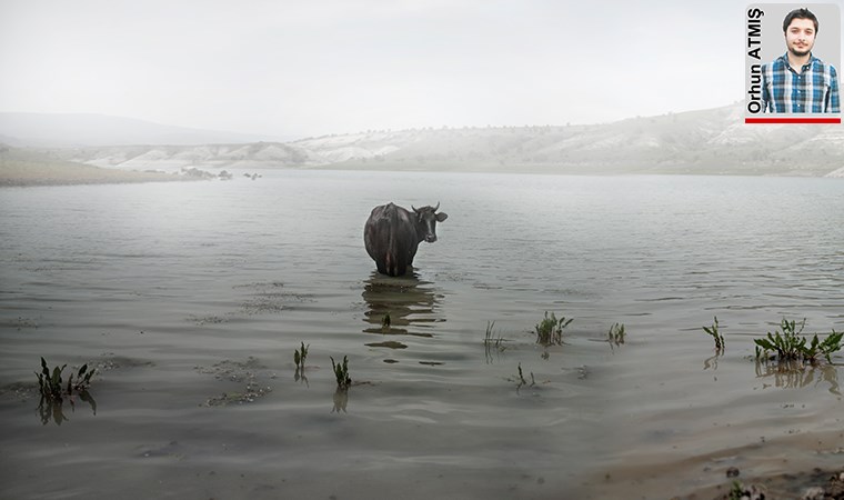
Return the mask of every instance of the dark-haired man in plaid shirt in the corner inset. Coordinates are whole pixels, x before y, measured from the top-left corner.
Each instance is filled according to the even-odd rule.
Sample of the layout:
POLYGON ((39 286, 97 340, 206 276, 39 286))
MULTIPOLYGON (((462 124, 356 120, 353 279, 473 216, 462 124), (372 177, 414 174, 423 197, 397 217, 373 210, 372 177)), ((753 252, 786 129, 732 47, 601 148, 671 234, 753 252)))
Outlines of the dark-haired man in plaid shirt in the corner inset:
POLYGON ((785 16, 787 51, 762 66, 762 109, 772 113, 838 113, 838 76, 812 54, 817 18, 808 9, 785 16))

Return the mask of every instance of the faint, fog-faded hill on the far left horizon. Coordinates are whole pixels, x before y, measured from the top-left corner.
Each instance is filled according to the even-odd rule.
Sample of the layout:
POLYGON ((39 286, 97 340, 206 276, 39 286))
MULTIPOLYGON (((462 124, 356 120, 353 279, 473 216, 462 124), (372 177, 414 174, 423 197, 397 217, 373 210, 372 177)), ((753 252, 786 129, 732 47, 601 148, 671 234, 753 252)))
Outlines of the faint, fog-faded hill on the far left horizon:
POLYGON ((0 113, 0 142, 30 147, 208 144, 280 140, 103 114, 0 113))

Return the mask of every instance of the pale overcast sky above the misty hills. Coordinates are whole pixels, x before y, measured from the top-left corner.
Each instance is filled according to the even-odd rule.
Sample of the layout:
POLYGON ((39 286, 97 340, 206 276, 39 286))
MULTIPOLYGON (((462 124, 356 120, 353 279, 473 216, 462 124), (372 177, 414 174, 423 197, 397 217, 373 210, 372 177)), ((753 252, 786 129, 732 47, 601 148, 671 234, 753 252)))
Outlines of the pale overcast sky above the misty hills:
POLYGON ((0 111, 300 138, 714 108, 747 3, 0 0, 0 111))

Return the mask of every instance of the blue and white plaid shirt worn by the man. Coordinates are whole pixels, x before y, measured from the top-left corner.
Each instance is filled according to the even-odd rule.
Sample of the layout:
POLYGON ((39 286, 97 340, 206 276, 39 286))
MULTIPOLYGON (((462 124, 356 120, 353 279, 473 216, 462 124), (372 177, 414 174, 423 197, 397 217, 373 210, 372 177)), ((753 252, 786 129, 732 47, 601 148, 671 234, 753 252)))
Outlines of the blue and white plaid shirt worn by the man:
POLYGON ((797 74, 788 54, 762 64, 762 109, 772 113, 840 113, 835 68, 811 56, 797 74))

